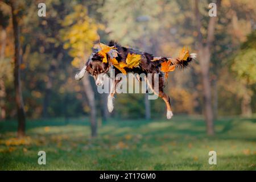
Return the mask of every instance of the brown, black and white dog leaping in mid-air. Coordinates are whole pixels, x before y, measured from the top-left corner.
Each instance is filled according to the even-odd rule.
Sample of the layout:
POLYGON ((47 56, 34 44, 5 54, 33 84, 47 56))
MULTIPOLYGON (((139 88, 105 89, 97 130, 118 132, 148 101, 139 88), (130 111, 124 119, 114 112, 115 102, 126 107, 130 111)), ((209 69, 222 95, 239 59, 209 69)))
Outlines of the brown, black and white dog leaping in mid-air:
MULTIPOLYGON (((161 63, 163 63, 164 61, 171 61, 171 65, 175 65, 175 67, 179 67, 179 68, 185 68, 187 67, 189 62, 196 59, 196 53, 189 54, 189 56, 187 57, 187 60, 180 60, 179 58, 174 59, 171 57, 154 57, 147 52, 141 52, 132 48, 122 47, 114 41, 110 41, 109 46, 110 47, 114 46, 115 48, 117 48, 116 50, 118 52, 118 56, 115 58, 118 61, 118 63, 120 63, 121 61, 123 63, 126 63, 126 57, 128 53, 141 55, 139 67, 124 68, 124 69, 127 73, 128 72, 138 73, 138 75, 140 75, 141 73, 144 73, 146 75, 145 79, 147 81, 147 85, 153 92, 154 92, 154 81, 150 82, 147 80, 147 73, 152 73, 153 80, 154 80, 154 74, 155 73, 159 74, 159 86, 158 86, 159 90, 158 92, 154 92, 154 93, 158 94, 158 96, 164 100, 167 108, 166 117, 167 119, 171 119, 173 114, 171 110, 170 97, 168 97, 167 94, 164 93, 165 77, 164 77, 164 73, 161 71, 161 63), (154 59, 157 59, 157 61, 152 61, 154 59)), ((90 55, 88 61, 86 62, 84 67, 81 69, 81 71, 76 74, 75 79, 80 80, 84 76, 85 72, 88 72, 91 76, 93 76, 96 82, 96 85, 100 86, 103 84, 101 75, 106 75, 101 73, 107 73, 109 75, 110 68, 115 69, 115 75, 117 75, 118 73, 121 73, 121 71, 113 67, 113 65, 109 64, 110 57, 108 55, 107 55, 108 63, 102 63, 103 58, 104 57, 102 55, 98 54, 96 49, 93 49, 92 55, 90 55)), ((116 85, 118 84, 119 81, 120 80, 115 80, 115 79, 112 80, 112 86, 110 88, 110 94, 108 96, 108 110, 110 113, 114 109, 113 98, 115 94, 116 85)))

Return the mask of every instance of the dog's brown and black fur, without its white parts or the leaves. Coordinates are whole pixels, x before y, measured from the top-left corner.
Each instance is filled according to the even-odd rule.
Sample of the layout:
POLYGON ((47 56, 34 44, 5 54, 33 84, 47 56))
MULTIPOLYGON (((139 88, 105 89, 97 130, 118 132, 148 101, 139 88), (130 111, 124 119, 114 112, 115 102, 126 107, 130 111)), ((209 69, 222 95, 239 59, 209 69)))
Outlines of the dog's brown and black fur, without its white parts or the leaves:
MULTIPOLYGON (((116 57, 116 59, 118 60, 118 62, 123 61, 124 63, 126 63, 126 57, 128 53, 130 54, 135 53, 137 55, 141 55, 141 63, 139 64, 139 68, 133 68, 133 69, 125 68, 127 73, 129 72, 138 73, 139 75, 141 73, 144 73, 145 75, 147 75, 147 73, 152 73, 153 77, 154 77, 154 73, 159 73, 159 92, 156 93, 154 92, 154 90, 153 92, 155 94, 158 94, 158 96, 164 100, 164 102, 166 103, 167 111, 171 111, 170 97, 168 97, 164 93, 164 73, 160 71, 161 63, 163 63, 164 61, 171 60, 172 65, 176 65, 176 67, 180 67, 180 68, 185 68, 187 67, 189 62, 192 61, 193 58, 188 57, 188 59, 184 61, 184 60, 174 59, 171 57, 160 57, 158 61, 151 61, 154 59, 154 56, 152 56, 150 53, 137 51, 132 48, 122 47, 118 43, 113 41, 109 43, 109 46, 115 46, 117 48, 118 57, 116 57)), ((95 49, 93 49, 92 55, 90 56, 89 60, 86 62, 86 71, 89 72, 90 75, 92 75, 95 80, 97 79, 97 76, 100 75, 100 73, 108 73, 109 68, 111 67, 109 63, 102 63, 102 58, 103 57, 99 55, 95 49)), ((110 59, 110 57, 108 57, 108 59, 110 59)), ((112 68, 115 69, 115 75, 117 75, 118 73, 121 73, 117 68, 115 67, 112 67, 112 68)), ((118 82, 119 81, 115 81, 115 85, 118 82)), ((149 84, 149 82, 147 83, 149 84)), ((152 81, 152 84, 148 86, 150 86, 150 88, 154 88, 154 81, 152 81)), ((111 96, 114 96, 114 93, 115 92, 110 93, 111 96)))

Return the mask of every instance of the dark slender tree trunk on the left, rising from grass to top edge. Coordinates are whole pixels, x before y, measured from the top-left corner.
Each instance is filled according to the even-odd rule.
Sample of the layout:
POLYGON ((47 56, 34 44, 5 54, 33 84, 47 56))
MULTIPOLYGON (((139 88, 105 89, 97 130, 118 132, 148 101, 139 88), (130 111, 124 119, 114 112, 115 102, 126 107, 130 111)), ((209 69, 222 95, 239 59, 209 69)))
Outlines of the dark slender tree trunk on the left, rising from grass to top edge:
POLYGON ((24 104, 22 98, 22 89, 20 85, 20 62, 22 55, 20 52, 20 27, 17 13, 15 12, 14 1, 11 2, 11 14, 13 16, 13 30, 14 30, 14 44, 15 44, 15 56, 14 56, 14 89, 15 89, 15 102, 18 113, 18 137, 25 135, 25 113, 24 104))

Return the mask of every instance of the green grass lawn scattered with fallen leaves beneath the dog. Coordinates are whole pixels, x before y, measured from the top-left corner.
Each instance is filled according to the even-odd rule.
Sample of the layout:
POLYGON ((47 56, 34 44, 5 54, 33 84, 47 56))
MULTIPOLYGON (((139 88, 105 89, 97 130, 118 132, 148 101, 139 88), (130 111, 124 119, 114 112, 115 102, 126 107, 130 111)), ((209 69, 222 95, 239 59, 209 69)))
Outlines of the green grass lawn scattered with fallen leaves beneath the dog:
POLYGON ((225 118, 207 137, 199 117, 114 120, 90 138, 87 119, 28 121, 17 140, 16 122, 0 122, 0 170, 255 170, 256 119, 225 118), (46 165, 38 151, 46 151, 46 165), (208 152, 217 152, 209 165, 208 152))

